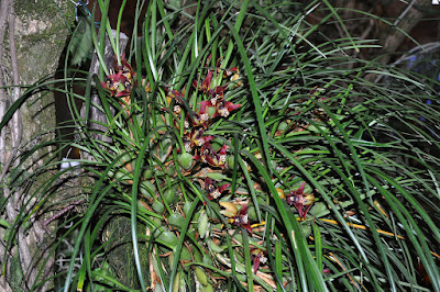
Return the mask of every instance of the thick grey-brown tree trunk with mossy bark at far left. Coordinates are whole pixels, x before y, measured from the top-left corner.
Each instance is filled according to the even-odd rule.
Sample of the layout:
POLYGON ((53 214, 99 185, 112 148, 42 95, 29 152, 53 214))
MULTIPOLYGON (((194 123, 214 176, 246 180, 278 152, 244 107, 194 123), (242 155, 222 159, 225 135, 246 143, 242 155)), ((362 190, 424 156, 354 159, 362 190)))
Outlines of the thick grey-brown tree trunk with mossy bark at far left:
POLYGON ((54 98, 51 91, 24 93, 28 86, 54 75, 73 15, 69 0, 0 1, 0 192, 6 199, 0 216, 3 227, 11 226, 0 231, 0 261, 7 267, 0 291, 50 289, 48 283, 33 287, 48 278, 53 266, 47 228, 32 216, 26 218, 30 226, 22 224, 36 204, 36 199, 28 195, 31 181, 24 176, 35 173, 53 150, 35 150, 34 146, 55 137, 54 98), (23 102, 10 116, 8 111, 12 112, 16 101, 23 102), (9 236, 14 240, 8 242, 9 236), (43 272, 37 276, 40 270, 43 272))

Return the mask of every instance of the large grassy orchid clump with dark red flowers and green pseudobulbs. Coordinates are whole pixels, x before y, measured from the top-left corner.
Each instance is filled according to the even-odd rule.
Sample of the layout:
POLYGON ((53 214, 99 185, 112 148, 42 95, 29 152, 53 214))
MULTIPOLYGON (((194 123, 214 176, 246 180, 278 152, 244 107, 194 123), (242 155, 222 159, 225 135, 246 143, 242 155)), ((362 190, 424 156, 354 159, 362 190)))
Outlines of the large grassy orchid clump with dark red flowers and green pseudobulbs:
POLYGON ((436 91, 342 54, 372 42, 315 44, 339 20, 327 1, 260 2, 150 1, 142 37, 102 68, 111 139, 77 114, 95 181, 65 291, 440 289, 436 91))

